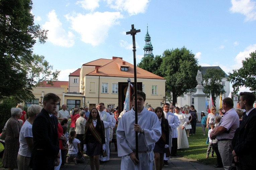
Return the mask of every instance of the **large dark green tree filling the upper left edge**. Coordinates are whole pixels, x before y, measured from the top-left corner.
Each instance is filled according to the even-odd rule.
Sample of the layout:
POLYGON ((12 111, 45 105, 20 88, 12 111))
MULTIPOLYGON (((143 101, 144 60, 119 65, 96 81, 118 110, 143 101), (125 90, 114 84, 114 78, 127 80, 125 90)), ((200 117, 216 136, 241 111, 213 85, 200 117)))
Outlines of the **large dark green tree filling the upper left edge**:
POLYGON ((47 30, 34 25, 31 0, 0 1, 0 100, 18 102, 32 99, 32 86, 23 66, 32 61, 36 40, 44 43, 47 30))

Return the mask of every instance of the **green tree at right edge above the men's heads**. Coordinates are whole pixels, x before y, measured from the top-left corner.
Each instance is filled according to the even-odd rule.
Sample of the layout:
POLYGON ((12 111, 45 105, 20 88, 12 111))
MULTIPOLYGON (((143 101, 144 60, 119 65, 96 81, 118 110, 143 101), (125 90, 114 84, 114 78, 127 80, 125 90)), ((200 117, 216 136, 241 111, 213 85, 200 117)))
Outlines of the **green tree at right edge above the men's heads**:
POLYGON ((240 69, 229 73, 229 79, 232 83, 234 92, 239 91, 239 87, 249 87, 251 91, 256 92, 256 50, 250 53, 250 57, 242 61, 243 66, 240 69))

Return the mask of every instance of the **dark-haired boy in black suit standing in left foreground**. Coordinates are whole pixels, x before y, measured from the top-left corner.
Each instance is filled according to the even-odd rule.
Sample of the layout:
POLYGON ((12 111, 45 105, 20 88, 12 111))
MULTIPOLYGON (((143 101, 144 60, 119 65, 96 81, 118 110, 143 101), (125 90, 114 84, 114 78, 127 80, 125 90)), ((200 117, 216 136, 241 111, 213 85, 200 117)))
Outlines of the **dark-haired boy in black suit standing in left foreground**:
POLYGON ((48 93, 43 99, 43 109, 33 122, 33 150, 30 167, 33 170, 54 170, 60 163, 60 148, 58 141, 58 120, 52 113, 55 112, 60 97, 48 93))

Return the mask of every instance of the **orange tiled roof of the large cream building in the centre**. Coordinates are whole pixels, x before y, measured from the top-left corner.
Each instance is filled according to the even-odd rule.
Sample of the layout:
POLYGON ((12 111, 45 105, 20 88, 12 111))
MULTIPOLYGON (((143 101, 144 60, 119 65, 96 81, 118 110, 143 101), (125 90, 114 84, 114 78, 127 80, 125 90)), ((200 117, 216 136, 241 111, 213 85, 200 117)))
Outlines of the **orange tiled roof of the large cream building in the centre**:
MULTIPOLYGON (((112 77, 134 77, 134 65, 129 62, 126 62, 120 58, 116 58, 113 60, 98 59, 95 61, 92 61, 89 63, 95 63, 99 66, 101 65, 101 67, 95 69, 94 71, 88 73, 87 75, 112 76, 112 77), (107 63, 106 63, 106 60, 108 60, 107 63), (97 61, 97 62, 95 62, 95 61, 97 61), (123 62, 125 62, 125 65, 123 65, 123 62), (128 71, 121 71, 120 66, 128 67, 128 71)), ((88 63, 86 63, 84 65, 87 65, 87 64, 88 63)), ((163 77, 160 77, 156 74, 148 72, 140 67, 137 67, 137 78, 164 79, 163 77)))

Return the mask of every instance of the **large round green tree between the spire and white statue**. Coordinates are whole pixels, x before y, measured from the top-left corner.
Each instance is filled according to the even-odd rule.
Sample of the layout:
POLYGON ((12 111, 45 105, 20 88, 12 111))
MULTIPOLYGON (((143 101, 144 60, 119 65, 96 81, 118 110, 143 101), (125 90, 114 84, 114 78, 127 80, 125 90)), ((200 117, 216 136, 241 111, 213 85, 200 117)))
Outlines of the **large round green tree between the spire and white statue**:
POLYGON ((166 79, 165 93, 166 96, 172 93, 172 102, 175 104, 177 97, 196 87, 195 77, 200 66, 195 55, 185 47, 165 50, 162 59, 160 70, 166 79))

